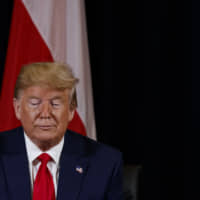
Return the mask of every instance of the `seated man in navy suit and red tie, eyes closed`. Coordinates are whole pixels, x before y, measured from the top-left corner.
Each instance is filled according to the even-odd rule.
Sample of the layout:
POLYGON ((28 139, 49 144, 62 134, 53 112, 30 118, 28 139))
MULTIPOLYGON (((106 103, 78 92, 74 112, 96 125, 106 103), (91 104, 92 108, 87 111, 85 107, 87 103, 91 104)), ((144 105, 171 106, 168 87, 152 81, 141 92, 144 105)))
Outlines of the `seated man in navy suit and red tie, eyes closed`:
POLYGON ((60 63, 22 68, 14 109, 22 127, 0 133, 0 199, 120 200, 121 153, 67 130, 78 80, 60 63))

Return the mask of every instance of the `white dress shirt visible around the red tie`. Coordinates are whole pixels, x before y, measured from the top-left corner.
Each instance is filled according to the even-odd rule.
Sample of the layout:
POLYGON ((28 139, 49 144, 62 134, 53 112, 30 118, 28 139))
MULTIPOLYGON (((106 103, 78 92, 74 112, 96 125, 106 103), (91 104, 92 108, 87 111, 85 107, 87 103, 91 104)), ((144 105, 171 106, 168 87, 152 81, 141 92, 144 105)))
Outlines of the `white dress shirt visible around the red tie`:
POLYGON ((33 183, 37 175, 37 171, 40 167, 41 162, 37 159, 37 157, 42 153, 47 153, 51 156, 52 160, 47 163, 47 167, 50 170, 53 183, 55 188, 55 194, 57 195, 57 185, 58 185, 58 172, 59 172, 59 161, 61 151, 64 145, 64 137, 60 141, 59 144, 52 147, 48 151, 41 151, 31 140, 30 138, 24 133, 25 137, 25 144, 26 144, 26 151, 29 161, 29 171, 30 171, 30 178, 31 178, 31 189, 33 191, 33 183))

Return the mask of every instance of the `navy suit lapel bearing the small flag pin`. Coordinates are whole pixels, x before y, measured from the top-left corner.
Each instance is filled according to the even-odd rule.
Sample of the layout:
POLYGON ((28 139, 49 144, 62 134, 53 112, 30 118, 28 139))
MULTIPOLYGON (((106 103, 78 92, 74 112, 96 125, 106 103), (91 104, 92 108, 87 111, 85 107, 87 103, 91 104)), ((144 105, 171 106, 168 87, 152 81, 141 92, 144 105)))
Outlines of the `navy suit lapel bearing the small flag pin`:
POLYGON ((60 160, 60 172, 58 182, 57 199, 75 200, 79 198, 79 193, 87 173, 88 158, 84 145, 81 141, 73 139, 71 133, 67 133, 65 144, 60 160))

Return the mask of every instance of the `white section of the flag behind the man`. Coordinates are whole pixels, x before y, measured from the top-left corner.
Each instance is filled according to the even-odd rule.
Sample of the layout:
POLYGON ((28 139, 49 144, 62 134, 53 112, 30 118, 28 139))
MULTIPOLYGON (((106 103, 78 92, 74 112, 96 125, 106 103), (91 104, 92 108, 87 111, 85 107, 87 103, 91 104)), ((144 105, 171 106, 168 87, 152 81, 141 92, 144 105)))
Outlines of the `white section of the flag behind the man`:
POLYGON ((22 0, 55 61, 68 63, 80 79, 78 113, 87 136, 96 139, 83 0, 22 0))

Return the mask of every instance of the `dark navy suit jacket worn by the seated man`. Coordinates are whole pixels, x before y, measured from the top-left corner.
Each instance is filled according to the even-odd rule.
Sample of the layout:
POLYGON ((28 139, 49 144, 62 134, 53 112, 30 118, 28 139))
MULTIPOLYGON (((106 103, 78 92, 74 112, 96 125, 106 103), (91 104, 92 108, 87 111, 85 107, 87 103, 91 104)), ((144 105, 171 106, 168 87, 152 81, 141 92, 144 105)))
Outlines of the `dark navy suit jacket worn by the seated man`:
MULTIPOLYGON (((0 133, 0 199, 31 199, 28 158, 21 127, 0 133)), ((57 199, 121 200, 121 153, 67 131, 60 159, 57 199), (83 168, 83 173, 76 171, 78 166, 83 168)))

